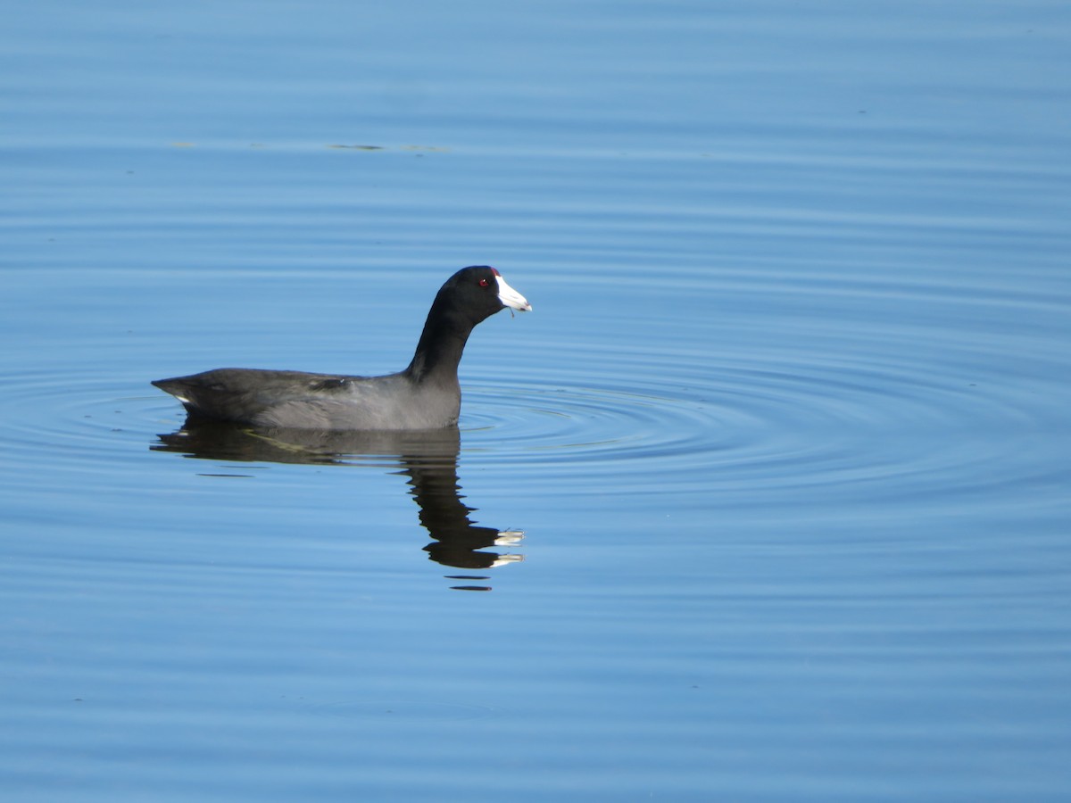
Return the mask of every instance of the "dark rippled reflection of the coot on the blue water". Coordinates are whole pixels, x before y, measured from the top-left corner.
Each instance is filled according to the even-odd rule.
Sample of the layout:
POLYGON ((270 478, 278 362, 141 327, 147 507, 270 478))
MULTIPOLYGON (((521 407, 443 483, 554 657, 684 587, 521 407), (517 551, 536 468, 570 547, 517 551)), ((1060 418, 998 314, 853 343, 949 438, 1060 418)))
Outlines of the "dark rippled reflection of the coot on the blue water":
MULTIPOLYGON (((465 570, 487 570, 523 560, 519 555, 487 550, 519 543, 522 530, 479 527, 469 518, 476 509, 462 501, 457 482, 461 434, 454 427, 397 433, 253 429, 190 418, 178 431, 159 437, 154 451, 207 460, 399 466, 396 473, 407 478, 409 493, 420 509, 420 524, 433 539, 424 547, 431 560, 465 570)), ((487 578, 451 575, 450 579, 487 578)), ((481 585, 454 588, 489 590, 481 585)))

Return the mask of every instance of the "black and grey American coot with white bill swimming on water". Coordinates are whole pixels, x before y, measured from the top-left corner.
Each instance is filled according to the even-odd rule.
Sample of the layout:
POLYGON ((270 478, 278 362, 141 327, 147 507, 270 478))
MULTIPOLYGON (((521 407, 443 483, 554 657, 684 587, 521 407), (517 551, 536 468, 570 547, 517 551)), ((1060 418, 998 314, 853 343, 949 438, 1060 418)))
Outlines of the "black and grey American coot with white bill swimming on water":
POLYGON ((469 333, 499 309, 530 310, 494 268, 464 268, 439 290, 412 362, 397 374, 356 377, 218 368, 153 382, 194 418, 299 429, 439 429, 462 406, 457 365, 469 333))

